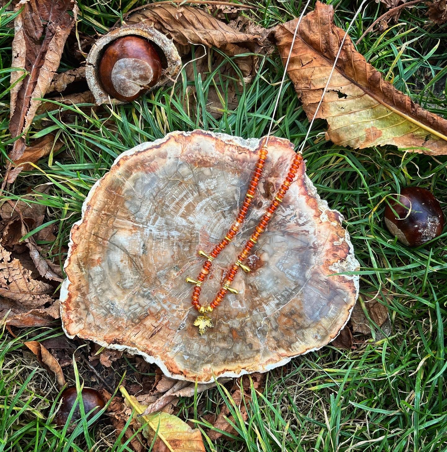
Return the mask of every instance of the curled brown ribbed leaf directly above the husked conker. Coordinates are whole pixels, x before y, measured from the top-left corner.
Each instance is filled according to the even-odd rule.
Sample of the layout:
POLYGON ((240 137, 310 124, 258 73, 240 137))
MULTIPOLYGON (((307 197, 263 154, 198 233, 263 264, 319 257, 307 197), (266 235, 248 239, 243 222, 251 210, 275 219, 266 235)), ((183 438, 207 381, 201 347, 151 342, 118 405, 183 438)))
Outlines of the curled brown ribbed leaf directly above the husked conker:
MULTIPOLYGON (((198 44, 217 47, 229 56, 259 53, 270 44, 267 41, 268 32, 263 28, 252 28, 253 33, 236 31, 204 10, 192 6, 150 5, 130 15, 126 24, 147 24, 180 46, 198 44)), ((235 59, 244 78, 255 74, 256 61, 256 56, 239 56, 235 59)))

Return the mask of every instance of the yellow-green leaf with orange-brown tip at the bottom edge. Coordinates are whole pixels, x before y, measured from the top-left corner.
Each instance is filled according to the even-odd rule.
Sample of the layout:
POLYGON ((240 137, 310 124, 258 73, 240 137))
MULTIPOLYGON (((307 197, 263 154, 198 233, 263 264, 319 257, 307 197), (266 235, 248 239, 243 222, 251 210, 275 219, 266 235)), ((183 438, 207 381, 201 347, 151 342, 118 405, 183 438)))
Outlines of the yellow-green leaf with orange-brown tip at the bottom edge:
MULTIPOLYGON (((135 410, 135 414, 143 414, 144 405, 140 405, 133 395, 129 395, 126 389, 120 387, 121 394, 124 396, 126 404, 135 410)), ((145 423, 143 435, 148 439, 148 443, 154 441, 154 451, 188 452, 203 451, 202 435, 198 428, 192 429, 186 422, 183 422, 177 416, 168 413, 154 413, 142 415, 140 417, 145 423)))

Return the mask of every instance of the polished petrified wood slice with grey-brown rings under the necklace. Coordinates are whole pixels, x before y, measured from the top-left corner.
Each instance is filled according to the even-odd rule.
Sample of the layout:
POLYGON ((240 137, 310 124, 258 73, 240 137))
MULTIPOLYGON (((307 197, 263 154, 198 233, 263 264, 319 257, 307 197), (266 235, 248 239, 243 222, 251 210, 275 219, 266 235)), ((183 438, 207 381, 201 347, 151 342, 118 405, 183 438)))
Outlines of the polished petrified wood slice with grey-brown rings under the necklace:
MULTIPOLYGON (((358 294, 342 216, 320 199, 304 165, 233 287, 199 336, 191 285, 228 230, 263 141, 172 132, 122 154, 84 202, 71 231, 61 291, 66 333, 140 353, 172 377, 212 381, 266 371, 335 338, 358 294)), ((294 156, 270 138, 263 179, 241 232, 202 286, 206 304, 284 179, 294 156)))

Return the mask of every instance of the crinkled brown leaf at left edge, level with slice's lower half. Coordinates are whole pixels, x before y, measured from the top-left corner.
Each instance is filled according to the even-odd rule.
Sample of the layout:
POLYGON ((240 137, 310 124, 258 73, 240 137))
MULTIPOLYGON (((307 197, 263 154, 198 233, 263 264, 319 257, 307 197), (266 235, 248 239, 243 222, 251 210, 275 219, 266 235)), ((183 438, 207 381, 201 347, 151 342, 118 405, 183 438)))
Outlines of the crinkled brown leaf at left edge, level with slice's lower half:
POLYGON ((31 272, 23 268, 18 259, 0 245, 0 295, 17 301, 28 309, 37 309, 52 302, 49 295, 53 288, 43 281, 31 277, 31 272))

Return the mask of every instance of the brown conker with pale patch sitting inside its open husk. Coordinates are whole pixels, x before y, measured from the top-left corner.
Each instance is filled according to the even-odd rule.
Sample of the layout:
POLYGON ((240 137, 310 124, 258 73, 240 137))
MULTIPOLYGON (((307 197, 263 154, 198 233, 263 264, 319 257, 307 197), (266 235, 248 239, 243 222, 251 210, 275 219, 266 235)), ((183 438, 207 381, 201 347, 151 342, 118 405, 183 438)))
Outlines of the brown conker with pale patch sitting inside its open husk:
POLYGON ((130 102, 157 83, 162 63, 155 47, 138 36, 111 42, 98 65, 98 76, 111 97, 130 102))

